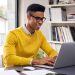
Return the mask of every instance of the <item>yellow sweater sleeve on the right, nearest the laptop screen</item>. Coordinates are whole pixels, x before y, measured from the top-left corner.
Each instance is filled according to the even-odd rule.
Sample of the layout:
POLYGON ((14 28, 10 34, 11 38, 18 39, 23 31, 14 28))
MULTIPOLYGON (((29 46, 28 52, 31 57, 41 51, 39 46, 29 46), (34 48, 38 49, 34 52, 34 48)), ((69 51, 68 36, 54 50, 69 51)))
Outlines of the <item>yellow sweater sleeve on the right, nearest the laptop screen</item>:
POLYGON ((42 34, 42 43, 41 43, 41 48, 47 53, 48 56, 54 57, 57 56, 57 51, 54 50, 51 46, 50 43, 46 40, 45 36, 42 34))

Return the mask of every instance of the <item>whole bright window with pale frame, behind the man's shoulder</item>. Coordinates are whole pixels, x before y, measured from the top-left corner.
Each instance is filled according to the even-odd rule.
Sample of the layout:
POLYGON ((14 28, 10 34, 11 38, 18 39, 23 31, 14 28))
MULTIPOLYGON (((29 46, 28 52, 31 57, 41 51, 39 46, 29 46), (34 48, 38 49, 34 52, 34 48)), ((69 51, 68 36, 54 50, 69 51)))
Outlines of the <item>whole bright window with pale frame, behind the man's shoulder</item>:
POLYGON ((16 26, 16 0, 0 0, 0 55, 6 34, 16 26))

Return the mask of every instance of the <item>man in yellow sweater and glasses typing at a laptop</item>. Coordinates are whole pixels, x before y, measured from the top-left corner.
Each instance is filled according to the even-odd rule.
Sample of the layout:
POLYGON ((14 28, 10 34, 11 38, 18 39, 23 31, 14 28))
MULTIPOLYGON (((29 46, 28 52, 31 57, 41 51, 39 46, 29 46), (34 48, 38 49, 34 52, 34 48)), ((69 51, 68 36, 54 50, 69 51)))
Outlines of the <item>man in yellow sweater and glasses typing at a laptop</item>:
POLYGON ((3 52, 5 67, 15 65, 53 64, 57 52, 50 47, 46 38, 39 30, 43 22, 45 7, 31 4, 27 8, 27 23, 9 32, 3 52), (42 48, 47 57, 37 59, 36 54, 42 48))

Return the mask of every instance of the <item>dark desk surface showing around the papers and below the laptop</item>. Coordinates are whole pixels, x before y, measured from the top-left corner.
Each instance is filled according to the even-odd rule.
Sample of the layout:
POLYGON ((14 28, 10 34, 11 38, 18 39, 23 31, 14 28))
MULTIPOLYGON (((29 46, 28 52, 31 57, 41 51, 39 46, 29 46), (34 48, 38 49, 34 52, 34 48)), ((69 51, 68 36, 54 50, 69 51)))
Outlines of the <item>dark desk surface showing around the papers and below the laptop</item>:
MULTIPOLYGON (((12 68, 7 68, 7 69, 8 70, 15 69, 17 71, 20 71, 19 72, 20 75, 25 75, 25 74, 21 73, 21 71, 23 70, 23 67, 12 67, 12 68)), ((40 69, 43 69, 43 68, 40 68, 40 69)), ((50 69, 48 69, 48 70, 50 70, 50 69)), ((75 75, 75 66, 66 67, 66 68, 60 68, 60 69, 54 69, 52 71, 57 72, 57 73, 63 73, 63 74, 66 74, 66 75, 75 75)))

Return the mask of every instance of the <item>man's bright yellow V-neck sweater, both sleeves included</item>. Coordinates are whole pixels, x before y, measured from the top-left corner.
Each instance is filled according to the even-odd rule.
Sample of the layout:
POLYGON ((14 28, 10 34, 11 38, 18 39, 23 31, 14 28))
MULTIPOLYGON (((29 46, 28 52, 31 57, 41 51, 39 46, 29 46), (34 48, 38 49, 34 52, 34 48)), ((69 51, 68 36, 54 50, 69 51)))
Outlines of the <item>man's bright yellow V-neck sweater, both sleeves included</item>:
POLYGON ((49 56, 53 57, 57 54, 40 30, 32 35, 26 34, 22 27, 10 31, 4 44, 4 66, 29 65, 39 48, 42 48, 49 56))

